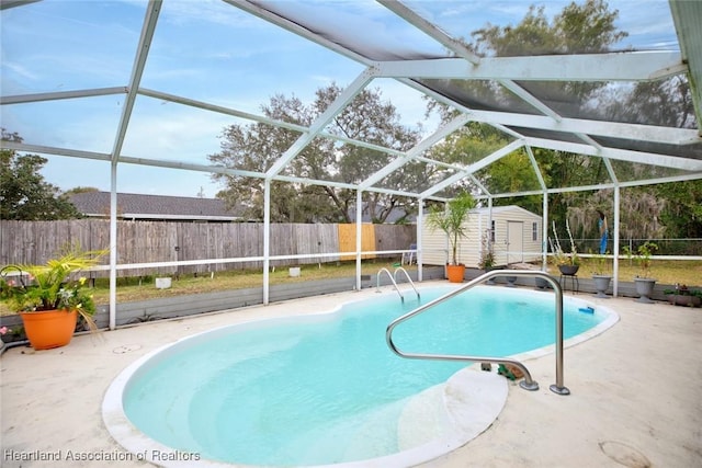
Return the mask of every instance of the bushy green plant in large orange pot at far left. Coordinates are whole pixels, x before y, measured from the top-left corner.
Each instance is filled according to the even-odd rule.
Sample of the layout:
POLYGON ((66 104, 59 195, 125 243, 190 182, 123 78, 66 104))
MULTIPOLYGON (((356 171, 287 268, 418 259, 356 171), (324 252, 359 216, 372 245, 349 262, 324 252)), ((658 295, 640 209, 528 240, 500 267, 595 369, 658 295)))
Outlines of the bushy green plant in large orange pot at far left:
POLYGON ((76 273, 98 264, 105 251, 65 249, 44 265, 7 265, 0 270, 0 298, 22 318, 24 331, 35 350, 68 344, 78 317, 97 330, 95 305, 86 289, 86 277, 76 273))

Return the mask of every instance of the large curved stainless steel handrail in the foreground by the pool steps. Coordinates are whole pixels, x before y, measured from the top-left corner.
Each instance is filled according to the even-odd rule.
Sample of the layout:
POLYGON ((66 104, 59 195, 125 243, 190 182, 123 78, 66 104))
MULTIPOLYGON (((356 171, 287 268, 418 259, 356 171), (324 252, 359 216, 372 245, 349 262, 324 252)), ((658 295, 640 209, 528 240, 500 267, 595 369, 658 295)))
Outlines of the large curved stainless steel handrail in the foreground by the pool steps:
POLYGON ((385 341, 389 349, 400 357, 409 358, 409 359, 439 359, 439 361, 466 361, 466 362, 482 362, 482 363, 496 363, 496 364, 509 364, 518 367, 520 370, 524 373, 524 379, 519 383, 519 386, 524 390, 535 391, 539 389, 539 384, 535 383, 529 369, 524 364, 517 359, 512 359, 509 357, 494 357, 494 356, 463 356, 463 355, 454 355, 454 354, 422 354, 422 353, 406 353, 397 347, 397 345, 393 342, 393 330, 395 327, 400 324, 401 322, 416 317, 426 310, 441 304, 458 294, 462 294, 473 287, 479 285, 486 279, 490 279, 496 276, 533 276, 541 277, 548 282, 554 289, 556 296, 556 383, 551 385, 548 388, 551 391, 557 395, 570 395, 570 390, 563 385, 563 289, 561 284, 550 274, 541 271, 533 270, 492 270, 483 275, 478 276, 475 279, 469 281, 465 285, 444 294, 443 296, 433 299, 422 306, 417 307, 416 309, 405 313, 404 316, 398 317, 393 320, 385 331, 385 341))

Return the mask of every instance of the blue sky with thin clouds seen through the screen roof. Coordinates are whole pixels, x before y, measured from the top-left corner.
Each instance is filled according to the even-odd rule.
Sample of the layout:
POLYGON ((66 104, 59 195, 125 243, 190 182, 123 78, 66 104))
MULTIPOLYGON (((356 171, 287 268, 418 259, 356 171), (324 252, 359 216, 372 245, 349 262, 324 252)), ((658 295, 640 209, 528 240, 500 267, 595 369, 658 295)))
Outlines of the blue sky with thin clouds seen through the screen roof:
MULTIPOLYGON (((552 18, 570 0, 407 0, 405 3, 456 36, 485 25, 517 24, 530 4, 552 18)), ((404 24, 372 0, 278 1, 292 15, 314 15, 333 34, 362 47, 374 39, 388 47, 442 54, 440 46, 404 24), (372 35, 364 34, 372 32, 372 35)), ((619 26, 630 32, 622 48, 677 49, 667 0, 611 0, 619 26)), ((146 2, 44 0, 0 12, 1 93, 3 96, 125 87, 129 82, 146 2)), ((350 84, 363 67, 219 0, 163 0, 141 88, 262 114, 271 98, 296 96, 310 104, 315 91, 350 84)), ((428 134, 419 93, 393 80, 374 80, 401 122, 428 134)), ((3 105, 1 126, 26 144, 111 152, 125 94, 3 105)), ((138 96, 122 153, 135 158, 207 164, 220 149, 220 135, 249 122, 138 96)), ((47 182, 67 191, 77 186, 110 190, 107 162, 44 155, 47 182)), ((117 191, 213 197, 222 187, 206 173, 120 164, 117 191)))

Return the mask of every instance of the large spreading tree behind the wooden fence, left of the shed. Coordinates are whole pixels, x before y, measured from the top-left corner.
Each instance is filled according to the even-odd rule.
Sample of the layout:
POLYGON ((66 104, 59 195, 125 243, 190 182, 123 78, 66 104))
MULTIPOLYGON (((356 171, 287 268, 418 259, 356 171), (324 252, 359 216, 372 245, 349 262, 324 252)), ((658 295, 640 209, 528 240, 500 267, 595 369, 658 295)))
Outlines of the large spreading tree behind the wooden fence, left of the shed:
MULTIPOLYGON (((317 90, 315 102, 305 105, 297 98, 275 95, 262 107, 263 114, 276 121, 310 126, 331 105, 342 90, 331 84, 317 90)), ((327 126, 325 132, 397 150, 408 150, 419 141, 419 132, 399 123, 396 107, 382 100, 377 90, 364 90, 327 126)), ((223 133, 222 151, 210 160, 227 168, 265 172, 298 138, 297 132, 250 124, 231 125, 223 133)), ((286 175, 360 183, 389 163, 395 156, 365 147, 315 138, 284 169, 286 175)), ((423 165, 406 164, 401 174, 389 174, 383 185, 398 190, 416 190, 426 183, 423 165)), ((245 216, 263 218, 263 180, 229 174, 215 174, 225 189, 217 196, 227 204, 241 204, 245 216)), ((367 192, 363 210, 377 222, 384 222, 393 210, 407 216, 414 201, 367 192)), ((271 184, 271 220, 278 222, 350 222, 355 206, 355 191, 330 185, 275 182, 271 184)))

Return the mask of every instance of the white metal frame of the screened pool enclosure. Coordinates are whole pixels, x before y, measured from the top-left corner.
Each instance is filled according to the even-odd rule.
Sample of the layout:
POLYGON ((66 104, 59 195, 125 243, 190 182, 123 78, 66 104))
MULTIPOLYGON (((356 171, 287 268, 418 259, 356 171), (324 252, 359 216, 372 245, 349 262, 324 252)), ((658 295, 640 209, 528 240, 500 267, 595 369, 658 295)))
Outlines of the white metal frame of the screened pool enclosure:
MULTIPOLYGON (((271 248, 270 235, 270 186, 273 181, 327 185, 356 191, 356 216, 361 219, 362 196, 364 192, 380 192, 417 198, 420 203, 419 217, 423 210, 424 199, 445 199, 444 191, 467 181, 478 198, 491 206, 496 197, 537 194, 543 196, 544 217, 547 213, 548 194, 566 191, 595 191, 612 189, 614 193, 614 239, 619 239, 620 191, 623 187, 650 184, 675 183, 686 180, 702 179, 702 138, 699 122, 702 118, 702 2, 670 0, 670 12, 675 23, 679 49, 654 50, 630 49, 607 54, 571 54, 533 55, 522 57, 479 57, 471 52, 456 36, 445 32, 441 25, 422 14, 423 8, 414 2, 396 0, 377 0, 369 2, 369 8, 382 9, 393 21, 400 20, 407 27, 426 36, 433 50, 412 50, 411 47, 399 47, 387 44, 382 36, 374 36, 373 31, 364 32, 363 37, 350 35, 342 28, 335 28, 328 18, 308 14, 308 9, 299 2, 265 2, 258 0, 223 0, 230 9, 245 12, 247 15, 263 20, 274 27, 285 30, 298 37, 310 41, 336 54, 339 54, 362 67, 362 71, 346 87, 336 101, 319 115, 309 126, 301 126, 290 122, 275 121, 264 115, 220 105, 202 99, 178 95, 166 90, 149 89, 143 85, 145 68, 150 59, 155 37, 159 33, 159 16, 169 4, 169 0, 152 0, 145 5, 144 20, 138 45, 134 53, 128 81, 120 85, 103 88, 77 88, 71 91, 33 92, 0 96, 3 113, 12 112, 14 106, 30 103, 57 101, 73 102, 80 99, 117 95, 121 99, 118 123, 114 128, 114 139, 109 151, 87 150, 80 147, 60 147, 38 142, 2 141, 3 149, 42 155, 65 156, 110 163, 111 172, 111 328, 114 328, 116 310, 116 219, 117 219, 117 169, 124 164, 180 169, 203 173, 223 173, 264 181, 264 248, 263 248, 263 301, 269 297, 269 265, 271 248), (614 122, 595 118, 580 113, 578 102, 569 102, 557 107, 553 96, 541 94, 537 85, 554 82, 605 82, 637 83, 664 80, 669 77, 687 76, 694 103, 697 126, 678 128, 659 124, 641 124, 614 122), (416 147, 408 151, 378 146, 373 142, 358 140, 329 133, 327 126, 346 106, 374 80, 393 79, 408 89, 419 91, 430 99, 445 104, 457 112, 457 116, 448 124, 426 136, 416 147), (486 82, 496 95, 467 95, 461 83, 486 82), (508 95, 508 102, 503 96, 508 95), (265 171, 249 171, 237 168, 224 168, 197 161, 174 161, 166 157, 134 157, 124 152, 125 136, 131 128, 131 119, 138 112, 136 103, 140 99, 155 99, 203 112, 279 126, 299 133, 297 140, 287 148, 281 158, 265 171), (489 124, 512 138, 507 146, 485 155, 480 159, 465 164, 446 164, 430 159, 428 150, 442 141, 446 136, 460 130, 471 122, 489 124), (389 155, 393 159, 387 165, 367 176, 361 183, 340 180, 315 180, 291 173, 291 161, 315 138, 331 138, 342 144, 352 144, 374 151, 389 155), (523 148, 529 155, 532 168, 539 181, 539 187, 520 193, 490 193, 479 183, 475 173, 505 156, 523 148), (539 170, 537 160, 532 148, 545 148, 601 158, 605 164, 608 181, 595 185, 550 187, 539 170), (386 187, 382 181, 404 165, 414 162, 435 164, 445 169, 444 178, 433 181, 430 186, 414 191, 386 187), (661 175, 625 180, 618 172, 619 162, 659 168, 661 175)), ((3 0, 2 19, 5 14, 34 7, 34 1, 3 0)), ((41 2, 39 2, 41 3, 41 2)), ((324 2, 320 2, 322 4, 324 2)), ((616 5, 614 1, 612 1, 616 5)), ((71 34, 67 31, 66 34, 71 34)), ((16 128, 25 134, 23 128, 16 128)), ((32 134, 32 132, 26 132, 32 134)), ((421 222, 421 221, 420 221, 421 222)), ((543 239, 547 236, 548 220, 543 221, 543 239)), ((418 244, 421 226, 418 226, 418 244)), ((356 286, 361 277, 361 224, 356 222, 356 286)), ((544 241, 544 261, 546 255, 544 241)), ((619 255, 618 243, 614 243, 614 258, 619 255)), ((421 265, 421 250, 418 252, 421 265)), ((614 277, 618 262, 614 262, 614 277)), ((420 267, 421 275, 421 267, 420 267)), ((616 295, 616 282, 614 295, 616 295)))

